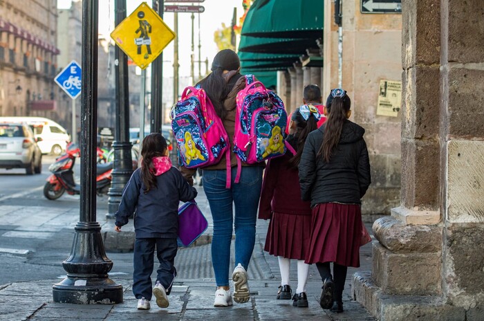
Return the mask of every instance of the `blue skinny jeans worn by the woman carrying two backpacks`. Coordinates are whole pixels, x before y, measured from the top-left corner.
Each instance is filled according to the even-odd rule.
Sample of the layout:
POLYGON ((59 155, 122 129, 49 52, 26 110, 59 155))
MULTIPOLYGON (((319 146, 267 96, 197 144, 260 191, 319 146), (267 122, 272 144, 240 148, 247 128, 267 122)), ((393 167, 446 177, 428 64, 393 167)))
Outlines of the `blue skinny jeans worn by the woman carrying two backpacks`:
POLYGON ((263 167, 242 167, 241 178, 237 184, 234 183, 236 169, 232 167, 230 189, 225 188, 225 169, 203 171, 203 190, 214 221, 212 265, 217 286, 229 285, 232 226, 235 227, 235 266, 240 263, 247 270, 254 250, 263 167), (235 217, 232 203, 235 205, 235 217))

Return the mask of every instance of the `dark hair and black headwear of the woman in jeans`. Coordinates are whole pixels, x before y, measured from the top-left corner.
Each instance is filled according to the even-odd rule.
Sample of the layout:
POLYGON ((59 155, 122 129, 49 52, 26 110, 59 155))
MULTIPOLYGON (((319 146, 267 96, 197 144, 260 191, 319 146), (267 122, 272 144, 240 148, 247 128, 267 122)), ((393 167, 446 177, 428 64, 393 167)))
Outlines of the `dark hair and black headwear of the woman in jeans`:
POLYGON ((230 49, 224 49, 215 55, 212 62, 212 73, 198 82, 214 105, 218 117, 222 119, 227 116, 223 101, 232 90, 232 87, 222 77, 223 71, 238 70, 240 66, 239 56, 230 49))

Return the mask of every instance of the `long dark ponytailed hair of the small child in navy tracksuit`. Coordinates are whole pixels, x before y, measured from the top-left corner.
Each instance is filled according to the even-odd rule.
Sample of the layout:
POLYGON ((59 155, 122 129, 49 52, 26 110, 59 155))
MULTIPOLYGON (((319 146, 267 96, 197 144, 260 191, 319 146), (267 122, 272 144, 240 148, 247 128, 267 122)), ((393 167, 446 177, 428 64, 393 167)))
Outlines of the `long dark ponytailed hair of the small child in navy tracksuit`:
POLYGON ((154 157, 165 156, 167 140, 160 133, 151 133, 143 139, 141 146, 141 179, 145 184, 145 194, 156 187, 156 177, 151 161, 154 157))

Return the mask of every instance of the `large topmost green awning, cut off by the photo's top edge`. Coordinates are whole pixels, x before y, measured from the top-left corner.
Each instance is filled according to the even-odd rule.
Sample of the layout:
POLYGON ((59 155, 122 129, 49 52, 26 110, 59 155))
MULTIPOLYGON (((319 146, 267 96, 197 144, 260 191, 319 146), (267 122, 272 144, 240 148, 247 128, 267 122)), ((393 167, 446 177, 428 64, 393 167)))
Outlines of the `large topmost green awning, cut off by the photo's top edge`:
POLYGON ((252 37, 323 37, 324 1, 256 0, 250 6, 241 34, 252 37))

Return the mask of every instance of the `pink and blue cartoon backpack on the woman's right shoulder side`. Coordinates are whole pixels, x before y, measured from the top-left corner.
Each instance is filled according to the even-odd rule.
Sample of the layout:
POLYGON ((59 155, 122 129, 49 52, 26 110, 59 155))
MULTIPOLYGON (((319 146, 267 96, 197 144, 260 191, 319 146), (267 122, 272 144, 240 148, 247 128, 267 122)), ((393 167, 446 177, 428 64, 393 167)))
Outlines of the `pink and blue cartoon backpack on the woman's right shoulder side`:
POLYGON ((234 153, 240 161, 254 164, 286 154, 288 115, 274 91, 245 75, 246 86, 237 93, 235 113, 234 153))

